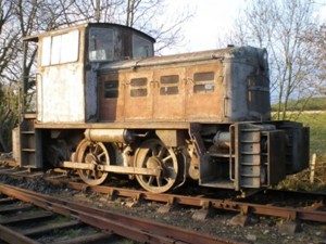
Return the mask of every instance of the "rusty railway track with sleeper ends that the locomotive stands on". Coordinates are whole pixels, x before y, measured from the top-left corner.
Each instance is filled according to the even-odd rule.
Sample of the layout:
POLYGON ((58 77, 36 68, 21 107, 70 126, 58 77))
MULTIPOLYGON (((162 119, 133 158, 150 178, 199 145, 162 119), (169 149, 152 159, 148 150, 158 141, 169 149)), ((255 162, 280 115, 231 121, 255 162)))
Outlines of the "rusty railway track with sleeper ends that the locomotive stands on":
MULTIPOLYGON (((2 174, 15 179, 39 177, 38 172, 10 168, 0 169, 0 175, 2 174)), ((87 194, 91 192, 100 193, 108 200, 127 198, 129 203, 131 202, 136 205, 148 202, 162 203, 158 210, 160 213, 173 211, 178 206, 190 206, 197 209, 192 211, 192 218, 199 220, 206 219, 212 209, 213 211, 217 209, 220 211, 234 213, 235 215, 233 214, 233 217, 230 217, 230 223, 239 226, 244 226, 252 216, 280 217, 284 219, 284 224, 279 228, 281 232, 296 232, 297 223, 302 221, 314 221, 321 224, 326 222, 326 195, 321 193, 267 190, 244 200, 225 200, 214 198, 210 195, 153 194, 146 191, 108 185, 89 187, 72 179, 74 177, 67 178, 62 174, 46 178, 53 185, 75 189, 87 194)))

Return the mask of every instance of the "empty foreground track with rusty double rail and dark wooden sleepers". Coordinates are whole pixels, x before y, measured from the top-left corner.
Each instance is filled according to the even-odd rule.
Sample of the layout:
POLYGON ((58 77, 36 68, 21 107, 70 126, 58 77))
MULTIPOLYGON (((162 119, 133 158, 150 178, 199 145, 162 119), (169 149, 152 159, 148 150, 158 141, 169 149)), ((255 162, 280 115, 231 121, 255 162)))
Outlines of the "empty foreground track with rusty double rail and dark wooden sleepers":
POLYGON ((0 193, 14 200, 24 202, 14 205, 8 205, 12 198, 7 197, 1 201, 4 206, 2 205, 0 207, 0 236, 8 243, 58 243, 58 240, 49 241, 48 237, 40 239, 46 241, 37 241, 32 239, 30 235, 36 235, 46 231, 51 231, 53 233, 55 228, 63 229, 80 223, 86 223, 104 232, 93 231, 95 233, 89 235, 82 237, 78 236, 75 240, 68 240, 65 242, 60 241, 60 243, 90 243, 90 241, 97 241, 96 239, 99 239, 99 241, 106 241, 99 243, 108 243, 108 240, 112 237, 112 234, 124 236, 141 243, 238 243, 210 235, 203 235, 180 228, 143 220, 140 218, 127 217, 112 211, 101 210, 82 204, 58 200, 49 195, 11 185, 0 184, 0 193), (22 230, 20 228, 17 229, 15 226, 13 228, 8 228, 4 226, 13 222, 22 223, 27 221, 28 217, 26 217, 26 215, 20 216, 17 213, 21 213, 22 209, 30 208, 30 204, 45 209, 34 209, 33 214, 29 214, 29 220, 33 222, 38 222, 40 218, 51 217, 53 216, 53 213, 72 218, 72 220, 68 220, 65 223, 57 224, 57 227, 54 224, 45 228, 42 224, 42 227, 33 229, 29 228, 27 230, 22 230), (15 214, 11 215, 13 217, 9 216, 5 218, 2 216, 2 214, 5 211, 14 211, 15 214))

